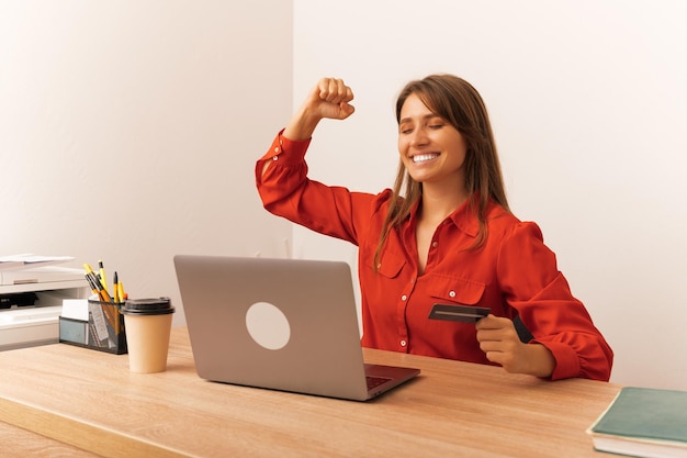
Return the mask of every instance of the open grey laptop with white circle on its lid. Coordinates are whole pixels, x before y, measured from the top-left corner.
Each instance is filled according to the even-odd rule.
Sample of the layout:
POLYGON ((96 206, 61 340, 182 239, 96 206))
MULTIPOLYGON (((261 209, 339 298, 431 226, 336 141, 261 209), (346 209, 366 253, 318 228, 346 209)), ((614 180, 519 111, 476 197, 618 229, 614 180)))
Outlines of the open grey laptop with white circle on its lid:
POLYGON ((174 268, 203 379, 367 401, 419 373, 363 362, 346 262, 177 255, 174 268))

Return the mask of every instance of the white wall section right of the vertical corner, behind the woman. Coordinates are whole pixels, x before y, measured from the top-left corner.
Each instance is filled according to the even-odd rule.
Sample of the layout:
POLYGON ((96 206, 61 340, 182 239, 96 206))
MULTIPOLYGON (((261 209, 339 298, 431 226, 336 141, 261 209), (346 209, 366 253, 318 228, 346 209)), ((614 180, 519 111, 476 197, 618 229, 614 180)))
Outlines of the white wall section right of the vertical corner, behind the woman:
MULTIPOLYGON (((356 93, 356 114, 316 133, 311 176, 391 186, 397 92, 463 76, 491 110, 514 212, 541 225, 616 351, 611 380, 687 389, 686 18, 682 0, 295 0, 295 102, 322 76, 356 93)), ((293 249, 356 261, 302 228, 293 249)))

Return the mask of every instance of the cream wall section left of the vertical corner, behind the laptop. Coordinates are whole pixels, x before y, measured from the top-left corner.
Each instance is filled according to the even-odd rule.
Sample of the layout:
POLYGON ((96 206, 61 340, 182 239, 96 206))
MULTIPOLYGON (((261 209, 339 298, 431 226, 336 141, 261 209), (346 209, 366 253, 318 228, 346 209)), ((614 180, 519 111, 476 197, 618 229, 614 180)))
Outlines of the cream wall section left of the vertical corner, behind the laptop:
POLYGON ((292 11, 0 0, 0 254, 103 259, 177 305, 174 254, 285 256, 252 169, 291 113, 292 11))

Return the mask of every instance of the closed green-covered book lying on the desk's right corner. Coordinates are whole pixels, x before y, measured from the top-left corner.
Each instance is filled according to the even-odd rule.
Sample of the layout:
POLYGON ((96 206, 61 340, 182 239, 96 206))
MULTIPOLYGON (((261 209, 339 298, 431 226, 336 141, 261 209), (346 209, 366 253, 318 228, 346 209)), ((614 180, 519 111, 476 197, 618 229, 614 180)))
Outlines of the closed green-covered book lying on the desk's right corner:
POLYGON ((687 391, 622 388, 587 433, 600 451, 687 458, 687 391))

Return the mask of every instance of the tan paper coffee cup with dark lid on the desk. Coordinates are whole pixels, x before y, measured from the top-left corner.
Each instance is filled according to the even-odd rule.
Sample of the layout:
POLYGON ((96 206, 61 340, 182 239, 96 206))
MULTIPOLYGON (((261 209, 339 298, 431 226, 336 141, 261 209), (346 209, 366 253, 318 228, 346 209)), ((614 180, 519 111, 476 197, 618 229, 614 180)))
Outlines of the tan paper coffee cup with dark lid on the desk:
POLYGON ((127 300, 122 313, 129 370, 138 373, 166 370, 174 313, 169 298, 127 300))

